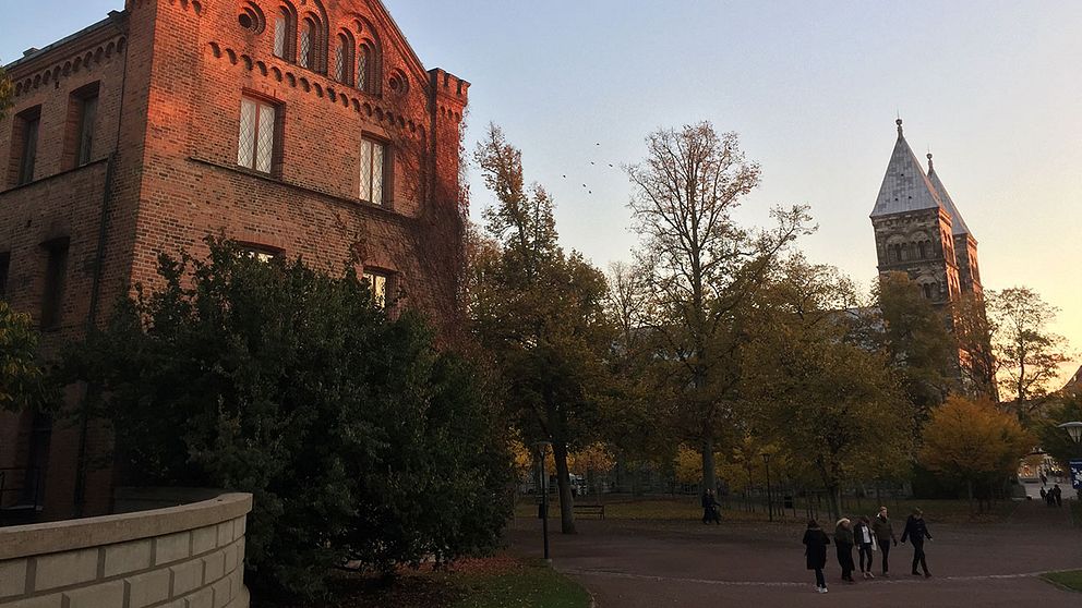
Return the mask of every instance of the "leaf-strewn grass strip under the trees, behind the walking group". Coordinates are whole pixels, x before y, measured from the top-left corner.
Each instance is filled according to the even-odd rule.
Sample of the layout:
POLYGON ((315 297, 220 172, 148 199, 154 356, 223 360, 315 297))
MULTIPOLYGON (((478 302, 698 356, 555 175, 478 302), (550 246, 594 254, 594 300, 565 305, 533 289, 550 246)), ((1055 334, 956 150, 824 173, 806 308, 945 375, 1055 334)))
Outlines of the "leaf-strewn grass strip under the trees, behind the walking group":
MULTIPOLYGON (((518 518, 536 518, 537 504, 533 497, 521 499, 515 510, 518 518)), ((584 503, 596 503, 592 496, 582 498, 584 503)), ((613 521, 696 521, 702 516, 702 509, 699 507, 699 499, 694 496, 677 497, 649 497, 632 499, 627 496, 604 497, 605 519, 613 521)), ((780 502, 780 501, 779 501, 780 502)), ((898 521, 904 521, 914 508, 921 508, 924 516, 933 523, 970 523, 970 522, 997 522, 1009 516, 1017 503, 1009 500, 994 502, 987 508, 985 513, 972 513, 970 503, 965 500, 885 500, 886 507, 890 509, 891 516, 898 521)), ((728 522, 766 522, 768 514, 764 504, 756 506, 755 511, 744 508, 737 498, 731 498, 723 502, 725 509, 722 511, 722 521, 728 522)), ((863 499, 859 503, 855 500, 846 500, 842 512, 846 515, 874 515, 878 512, 878 504, 873 498, 863 499)), ((818 509, 818 518, 821 520, 826 515, 826 504, 818 509)), ((560 504, 552 503, 549 509, 550 519, 560 518, 560 504)), ((779 504, 774 506, 776 521, 804 521, 806 518, 805 503, 803 499, 797 499, 795 513, 793 509, 779 510, 779 504)), ((588 518, 589 519, 589 518, 588 518)))

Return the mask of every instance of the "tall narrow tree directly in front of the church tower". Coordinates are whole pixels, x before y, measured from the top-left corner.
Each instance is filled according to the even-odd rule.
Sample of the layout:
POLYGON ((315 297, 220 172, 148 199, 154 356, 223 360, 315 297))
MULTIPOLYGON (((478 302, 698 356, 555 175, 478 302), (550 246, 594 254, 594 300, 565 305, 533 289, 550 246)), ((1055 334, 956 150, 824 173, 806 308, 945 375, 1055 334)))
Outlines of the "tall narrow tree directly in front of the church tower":
POLYGON ((881 315, 877 320, 882 323, 879 348, 901 373, 918 430, 955 384, 958 345, 947 329, 947 318, 905 272, 880 275, 874 295, 881 315))

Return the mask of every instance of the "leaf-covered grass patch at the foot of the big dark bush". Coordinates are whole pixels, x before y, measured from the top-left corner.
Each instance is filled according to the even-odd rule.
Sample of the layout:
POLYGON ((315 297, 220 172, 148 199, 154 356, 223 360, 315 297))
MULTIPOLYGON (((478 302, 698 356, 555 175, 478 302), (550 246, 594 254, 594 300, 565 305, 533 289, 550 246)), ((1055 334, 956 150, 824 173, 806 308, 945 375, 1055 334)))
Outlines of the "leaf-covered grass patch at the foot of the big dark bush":
MULTIPOLYGON (((332 583, 339 608, 588 608, 590 595, 578 583, 541 561, 508 556, 464 560, 450 571, 404 572, 393 583, 341 573, 332 583)), ((297 603, 252 589, 252 608, 316 608, 324 600, 297 603)))

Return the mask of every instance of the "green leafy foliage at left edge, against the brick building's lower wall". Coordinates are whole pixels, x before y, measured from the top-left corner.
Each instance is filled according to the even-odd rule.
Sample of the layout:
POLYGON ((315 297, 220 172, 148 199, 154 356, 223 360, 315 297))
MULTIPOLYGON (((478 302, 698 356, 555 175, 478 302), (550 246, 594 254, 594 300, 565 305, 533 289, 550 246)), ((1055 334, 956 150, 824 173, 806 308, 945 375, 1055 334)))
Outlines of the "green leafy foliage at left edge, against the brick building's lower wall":
POLYGON ((46 410, 59 403, 37 342, 29 315, 12 311, 0 300, 0 410, 46 410))

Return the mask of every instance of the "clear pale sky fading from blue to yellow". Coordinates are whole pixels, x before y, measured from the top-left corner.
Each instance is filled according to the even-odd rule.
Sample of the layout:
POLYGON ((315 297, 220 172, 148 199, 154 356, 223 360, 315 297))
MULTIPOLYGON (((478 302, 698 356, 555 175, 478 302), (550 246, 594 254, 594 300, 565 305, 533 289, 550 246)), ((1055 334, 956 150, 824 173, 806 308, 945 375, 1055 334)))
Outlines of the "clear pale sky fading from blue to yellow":
MULTIPOLYGON (((636 242, 620 165, 648 132, 709 120, 762 165, 743 218, 809 204, 820 228, 800 246, 870 283, 900 112, 979 242, 985 288, 1037 290, 1082 348, 1082 2, 385 1, 425 66, 473 83, 470 138, 503 126, 565 246, 599 266, 636 242)), ((122 8, 22 3, 0 60, 122 8)), ((472 195, 477 217, 491 198, 476 174, 472 195)))

